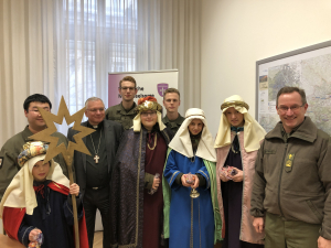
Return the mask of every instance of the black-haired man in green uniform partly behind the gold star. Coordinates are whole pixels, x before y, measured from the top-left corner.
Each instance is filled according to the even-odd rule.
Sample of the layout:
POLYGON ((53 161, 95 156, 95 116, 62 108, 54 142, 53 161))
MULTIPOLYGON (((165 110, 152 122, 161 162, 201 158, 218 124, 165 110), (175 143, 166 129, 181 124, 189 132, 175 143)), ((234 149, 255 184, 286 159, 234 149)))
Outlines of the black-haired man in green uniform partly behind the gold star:
MULTIPOLYGON (((10 184, 13 176, 21 169, 18 164, 18 155, 23 151, 23 144, 28 142, 29 137, 44 130, 46 128, 46 123, 40 115, 38 107, 45 109, 46 111, 51 111, 52 104, 50 99, 41 94, 34 94, 29 96, 24 104, 24 115, 28 119, 29 125, 24 128, 23 131, 17 133, 3 144, 0 151, 0 201, 3 196, 4 191, 10 184)), ((54 132, 52 136, 58 138, 58 144, 65 143, 67 145, 67 139, 60 132, 54 132)), ((62 154, 58 154, 54 158, 62 170, 63 173, 68 176, 67 168, 64 162, 62 154)))

